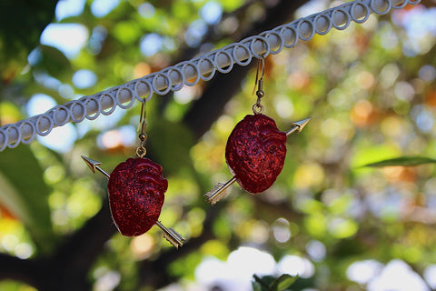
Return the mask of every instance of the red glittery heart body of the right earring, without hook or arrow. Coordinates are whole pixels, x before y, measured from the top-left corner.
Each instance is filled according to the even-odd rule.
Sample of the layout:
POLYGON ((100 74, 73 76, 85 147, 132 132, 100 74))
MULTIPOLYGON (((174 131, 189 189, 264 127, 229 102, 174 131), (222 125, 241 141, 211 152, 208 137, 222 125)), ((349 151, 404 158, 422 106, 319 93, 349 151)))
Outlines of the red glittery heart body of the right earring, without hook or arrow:
POLYGON ((246 115, 225 146, 225 161, 244 190, 265 191, 282 172, 286 134, 266 115, 246 115))

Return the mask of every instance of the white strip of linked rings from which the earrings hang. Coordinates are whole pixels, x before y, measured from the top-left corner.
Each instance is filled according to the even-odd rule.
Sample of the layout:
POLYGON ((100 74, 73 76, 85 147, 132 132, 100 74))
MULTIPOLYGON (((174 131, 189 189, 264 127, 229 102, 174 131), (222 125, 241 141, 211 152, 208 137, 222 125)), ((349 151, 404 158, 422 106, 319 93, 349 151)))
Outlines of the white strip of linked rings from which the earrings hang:
POLYGON ((56 105, 42 115, 35 115, 11 125, 0 127, 0 152, 5 147, 14 148, 20 143, 29 144, 35 135, 48 135, 54 127, 69 122, 79 123, 84 118, 94 120, 100 114, 111 115, 116 106, 123 109, 150 100, 152 95, 165 95, 182 89, 183 85, 196 85, 200 79, 209 81, 215 72, 229 73, 233 65, 249 65, 253 57, 275 55, 283 47, 290 48, 298 40, 311 40, 313 35, 326 35, 332 27, 342 30, 351 21, 362 24, 369 15, 385 15, 391 9, 416 5, 421 0, 355 0, 320 13, 302 17, 280 25, 260 35, 247 37, 239 43, 226 45, 205 55, 166 67, 124 85, 118 85, 94 95, 86 95, 64 105, 56 105), (192 80, 193 81, 188 81, 192 80))

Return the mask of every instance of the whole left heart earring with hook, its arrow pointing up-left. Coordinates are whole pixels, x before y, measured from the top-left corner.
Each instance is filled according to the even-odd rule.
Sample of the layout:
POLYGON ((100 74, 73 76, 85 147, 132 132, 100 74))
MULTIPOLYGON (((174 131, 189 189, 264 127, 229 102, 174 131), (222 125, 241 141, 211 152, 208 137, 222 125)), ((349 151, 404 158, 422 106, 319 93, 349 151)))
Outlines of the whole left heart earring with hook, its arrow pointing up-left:
POLYGON ((163 178, 162 166, 154 163, 146 154, 145 141, 145 100, 141 106, 138 130, 140 145, 136 148, 136 157, 128 158, 114 168, 111 175, 100 165, 102 163, 82 156, 84 162, 95 173, 103 173, 109 179, 107 191, 109 206, 114 224, 124 236, 141 236, 152 226, 159 226, 165 237, 173 246, 183 246, 184 238, 172 227, 166 228, 158 220, 163 206, 164 193, 168 181, 163 178))

